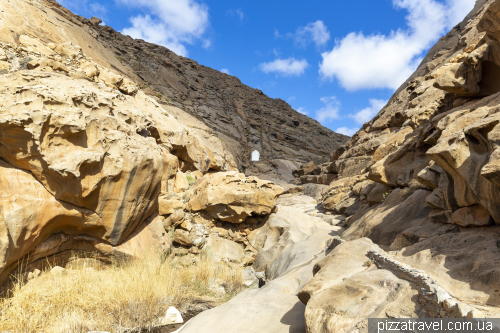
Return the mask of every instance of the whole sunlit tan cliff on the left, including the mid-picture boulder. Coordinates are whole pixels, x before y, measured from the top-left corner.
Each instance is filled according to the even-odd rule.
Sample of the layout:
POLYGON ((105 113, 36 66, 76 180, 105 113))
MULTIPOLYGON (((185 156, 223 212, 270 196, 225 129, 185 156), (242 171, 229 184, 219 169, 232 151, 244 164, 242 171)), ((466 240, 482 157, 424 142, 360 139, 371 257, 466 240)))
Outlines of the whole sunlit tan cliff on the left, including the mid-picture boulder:
POLYGON ((144 93, 94 30, 54 2, 0 9, 0 282, 20 262, 33 271, 72 252, 173 252, 169 227, 181 229, 175 246, 199 238, 201 248, 208 233, 191 227, 191 215, 183 221, 189 189, 204 175, 208 188, 193 187, 193 211, 240 224, 271 213, 282 189, 237 173, 234 147, 144 93))

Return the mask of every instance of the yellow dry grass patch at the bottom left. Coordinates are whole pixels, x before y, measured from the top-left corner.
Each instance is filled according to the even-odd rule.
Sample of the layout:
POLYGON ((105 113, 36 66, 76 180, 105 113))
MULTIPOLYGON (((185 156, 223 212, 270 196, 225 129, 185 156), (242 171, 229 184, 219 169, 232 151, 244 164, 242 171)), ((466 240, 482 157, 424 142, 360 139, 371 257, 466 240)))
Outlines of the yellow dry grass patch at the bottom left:
POLYGON ((188 267, 159 255, 102 270, 80 264, 60 276, 47 270, 27 283, 17 279, 11 297, 0 300, 0 332, 139 332, 169 306, 190 317, 241 289, 241 269, 208 255, 188 267))

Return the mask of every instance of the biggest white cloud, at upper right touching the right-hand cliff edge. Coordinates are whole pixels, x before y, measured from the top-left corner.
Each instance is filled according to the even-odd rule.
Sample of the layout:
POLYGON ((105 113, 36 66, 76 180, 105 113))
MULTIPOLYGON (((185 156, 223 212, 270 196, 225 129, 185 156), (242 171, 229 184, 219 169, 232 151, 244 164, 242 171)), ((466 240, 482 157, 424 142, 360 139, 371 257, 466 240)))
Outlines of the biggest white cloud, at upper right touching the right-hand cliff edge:
POLYGON ((319 73, 347 90, 397 89, 422 61, 421 54, 473 8, 475 0, 392 0, 406 9, 407 30, 389 35, 352 32, 322 53, 319 73))

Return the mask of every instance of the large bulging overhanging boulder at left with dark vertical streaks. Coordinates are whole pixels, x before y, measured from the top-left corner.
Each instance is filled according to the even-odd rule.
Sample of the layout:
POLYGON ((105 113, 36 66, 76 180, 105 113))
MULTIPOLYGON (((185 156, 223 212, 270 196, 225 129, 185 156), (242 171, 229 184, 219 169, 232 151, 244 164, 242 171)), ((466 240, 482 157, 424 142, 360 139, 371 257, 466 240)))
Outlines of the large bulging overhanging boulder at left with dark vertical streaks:
POLYGON ((85 229, 100 230, 118 245, 155 211, 161 149, 135 131, 151 121, 139 100, 55 73, 16 73, 0 81, 22 87, 0 94, 0 157, 29 171, 55 199, 95 212, 100 222, 85 229), (120 111, 109 116, 114 107, 120 111))

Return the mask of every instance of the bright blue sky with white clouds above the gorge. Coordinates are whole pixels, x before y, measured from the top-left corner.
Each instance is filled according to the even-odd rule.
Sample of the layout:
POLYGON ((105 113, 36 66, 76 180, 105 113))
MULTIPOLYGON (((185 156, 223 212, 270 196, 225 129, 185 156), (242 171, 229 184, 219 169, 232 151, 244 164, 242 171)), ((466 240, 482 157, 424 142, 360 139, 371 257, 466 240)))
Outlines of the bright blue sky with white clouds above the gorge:
POLYGON ((475 0, 59 0, 352 135, 475 0))

